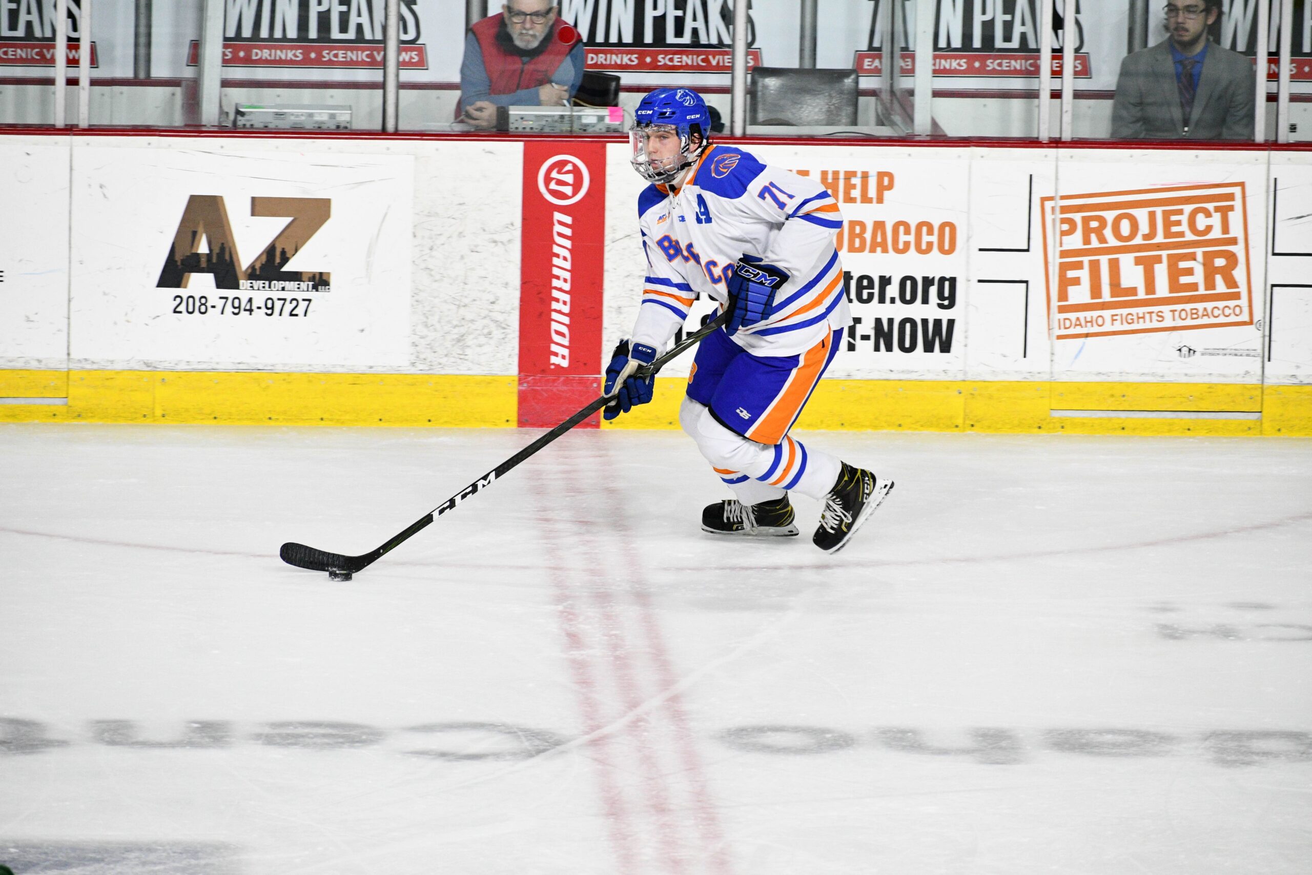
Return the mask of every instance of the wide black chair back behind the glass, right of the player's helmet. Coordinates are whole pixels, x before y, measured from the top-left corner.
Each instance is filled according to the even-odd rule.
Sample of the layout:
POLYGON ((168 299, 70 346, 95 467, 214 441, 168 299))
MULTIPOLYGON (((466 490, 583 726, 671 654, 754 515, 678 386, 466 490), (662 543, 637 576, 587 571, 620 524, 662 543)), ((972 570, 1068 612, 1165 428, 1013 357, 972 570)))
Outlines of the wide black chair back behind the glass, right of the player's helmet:
POLYGON ((757 67, 748 125, 855 125, 855 70, 757 67))

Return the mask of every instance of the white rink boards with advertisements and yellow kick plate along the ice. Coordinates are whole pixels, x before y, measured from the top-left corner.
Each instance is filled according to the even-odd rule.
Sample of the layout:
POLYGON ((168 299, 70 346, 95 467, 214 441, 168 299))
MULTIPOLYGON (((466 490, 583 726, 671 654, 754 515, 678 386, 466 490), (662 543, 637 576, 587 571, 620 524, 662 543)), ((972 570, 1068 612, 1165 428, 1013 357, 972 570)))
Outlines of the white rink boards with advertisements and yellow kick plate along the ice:
MULTIPOLYGON (((1312 434, 1307 151, 741 146, 846 220, 799 425, 1312 434)), ((5 421, 555 424, 646 272, 604 139, 30 132, 0 167, 5 421)), ((689 362, 623 426, 674 426, 689 362)))

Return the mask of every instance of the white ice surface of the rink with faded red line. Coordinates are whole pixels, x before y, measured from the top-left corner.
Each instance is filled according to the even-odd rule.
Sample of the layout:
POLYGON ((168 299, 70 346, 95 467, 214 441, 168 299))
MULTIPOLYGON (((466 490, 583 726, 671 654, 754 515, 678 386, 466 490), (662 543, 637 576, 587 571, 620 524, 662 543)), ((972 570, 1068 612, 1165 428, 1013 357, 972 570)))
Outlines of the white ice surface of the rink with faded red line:
POLYGON ((1312 441, 807 436, 844 552, 673 432, 0 428, 18 875, 1312 871, 1312 441))

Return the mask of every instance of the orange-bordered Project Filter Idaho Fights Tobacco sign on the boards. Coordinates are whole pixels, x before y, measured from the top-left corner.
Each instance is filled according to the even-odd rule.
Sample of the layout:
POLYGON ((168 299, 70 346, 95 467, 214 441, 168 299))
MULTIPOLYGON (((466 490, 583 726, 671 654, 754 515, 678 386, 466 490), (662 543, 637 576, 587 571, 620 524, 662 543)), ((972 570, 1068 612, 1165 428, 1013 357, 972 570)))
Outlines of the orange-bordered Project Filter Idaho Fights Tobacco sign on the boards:
POLYGON ((1042 202, 1056 340, 1253 324, 1244 182, 1042 202))

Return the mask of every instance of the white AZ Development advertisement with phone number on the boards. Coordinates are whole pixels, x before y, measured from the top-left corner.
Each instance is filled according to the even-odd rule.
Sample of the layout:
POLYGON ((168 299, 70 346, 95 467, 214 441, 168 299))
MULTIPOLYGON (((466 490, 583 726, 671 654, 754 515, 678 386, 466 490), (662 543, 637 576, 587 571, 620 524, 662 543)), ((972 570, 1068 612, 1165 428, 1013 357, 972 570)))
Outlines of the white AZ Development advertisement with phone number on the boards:
POLYGON ((412 156, 80 148, 72 357, 408 363, 412 181, 412 156))

